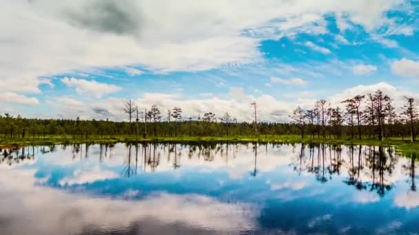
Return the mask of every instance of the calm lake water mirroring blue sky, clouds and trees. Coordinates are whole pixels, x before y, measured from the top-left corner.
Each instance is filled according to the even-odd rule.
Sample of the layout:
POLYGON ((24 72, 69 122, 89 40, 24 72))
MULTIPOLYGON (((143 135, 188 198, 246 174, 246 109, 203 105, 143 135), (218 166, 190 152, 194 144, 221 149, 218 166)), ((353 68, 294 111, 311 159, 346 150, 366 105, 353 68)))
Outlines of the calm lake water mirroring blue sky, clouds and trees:
POLYGON ((369 146, 1 150, 0 234, 419 234, 415 170, 369 146))

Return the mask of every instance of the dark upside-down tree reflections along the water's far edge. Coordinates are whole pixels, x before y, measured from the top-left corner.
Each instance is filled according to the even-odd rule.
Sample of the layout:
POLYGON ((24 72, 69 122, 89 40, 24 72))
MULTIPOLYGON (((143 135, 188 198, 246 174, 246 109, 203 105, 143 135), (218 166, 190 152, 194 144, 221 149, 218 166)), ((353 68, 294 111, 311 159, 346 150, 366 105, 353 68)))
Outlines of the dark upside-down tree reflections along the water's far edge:
MULTIPOLYGON (((268 148, 267 144, 258 143, 158 144, 136 142, 125 144, 125 156, 116 153, 115 159, 112 159, 114 146, 114 144, 68 144, 62 145, 62 148, 58 149, 67 151, 68 157, 72 157, 74 161, 99 159, 99 164, 103 164, 106 161, 116 161, 116 159, 124 157, 121 174, 124 177, 133 177, 141 172, 156 172, 161 168, 161 165, 175 170, 180 169, 182 156, 186 156, 186 161, 202 161, 200 164, 220 164, 220 167, 245 164, 244 172, 256 177, 261 170, 259 168, 264 167, 263 164, 270 164, 269 157, 274 155, 271 151, 280 151, 286 145, 272 144, 272 147, 268 148), (259 156, 260 145, 265 147, 263 159, 260 159, 259 156), (167 157, 167 162, 162 163, 162 156, 167 157), (243 157, 247 157, 247 160, 243 161, 243 157)), ((376 192, 380 197, 394 188, 395 179, 393 176, 398 175, 398 172, 394 171, 398 165, 399 155, 393 148, 339 144, 292 144, 292 148, 292 158, 287 161, 290 161, 289 166, 300 177, 311 175, 322 184, 337 177, 347 186, 354 187, 356 190, 376 192)), ((0 149, 0 164, 12 166, 28 159, 33 160, 37 154, 46 155, 54 151, 57 151, 57 146, 3 148, 0 149)), ((416 154, 411 154, 408 157, 398 167, 409 177, 407 181, 410 190, 416 191, 418 157, 416 154)), ((272 159, 272 164, 275 162, 272 159)))

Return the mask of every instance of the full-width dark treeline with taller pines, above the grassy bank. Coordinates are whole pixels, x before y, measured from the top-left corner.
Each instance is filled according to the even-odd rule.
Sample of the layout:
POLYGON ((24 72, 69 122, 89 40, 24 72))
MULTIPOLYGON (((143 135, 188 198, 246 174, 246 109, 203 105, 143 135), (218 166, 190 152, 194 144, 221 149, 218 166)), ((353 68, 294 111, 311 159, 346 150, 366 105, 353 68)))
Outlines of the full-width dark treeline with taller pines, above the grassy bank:
MULTIPOLYGON (((391 98, 378 90, 367 96, 344 100, 345 109, 331 107, 326 100, 318 100, 313 109, 298 107, 290 116, 294 122, 237 122, 229 113, 217 116, 207 112, 197 117, 183 117, 182 109, 173 107, 161 111, 158 105, 140 110, 133 100, 127 100, 127 122, 110 120, 40 120, 0 115, 0 138, 29 139, 47 135, 70 135, 88 139, 95 136, 112 137, 243 137, 260 135, 301 135, 311 138, 367 138, 409 137, 416 139, 419 128, 418 112, 413 98, 406 98, 402 113, 396 113, 391 98)), ((256 106, 256 103, 255 103, 256 106)), ((249 112, 253 113, 252 109, 249 112)), ((258 120, 256 108, 255 120, 258 120)))

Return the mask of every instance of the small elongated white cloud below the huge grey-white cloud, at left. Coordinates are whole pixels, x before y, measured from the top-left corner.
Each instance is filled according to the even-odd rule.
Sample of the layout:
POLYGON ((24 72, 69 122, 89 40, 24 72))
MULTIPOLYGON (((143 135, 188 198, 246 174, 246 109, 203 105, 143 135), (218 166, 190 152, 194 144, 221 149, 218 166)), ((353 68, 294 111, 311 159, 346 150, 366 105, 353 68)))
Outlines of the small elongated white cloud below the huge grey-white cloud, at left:
POLYGON ((108 93, 114 93, 121 90, 121 87, 116 85, 110 85, 107 83, 96 82, 95 80, 84 80, 77 78, 62 78, 63 82, 68 87, 74 87, 76 92, 86 96, 94 96, 101 98, 103 95, 108 93))

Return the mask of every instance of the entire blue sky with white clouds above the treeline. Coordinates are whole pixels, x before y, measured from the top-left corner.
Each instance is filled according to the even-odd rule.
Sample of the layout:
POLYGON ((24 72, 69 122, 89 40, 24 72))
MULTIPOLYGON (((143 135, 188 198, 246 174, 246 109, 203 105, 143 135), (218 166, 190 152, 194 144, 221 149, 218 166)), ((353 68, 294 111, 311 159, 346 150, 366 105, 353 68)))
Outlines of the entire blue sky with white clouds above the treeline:
POLYGON ((419 99, 416 0, 0 3, 0 113, 126 120, 133 99, 249 121, 256 101, 286 122, 318 99, 419 99))

